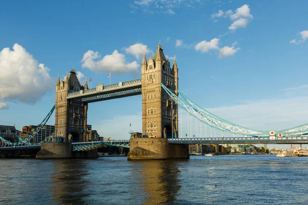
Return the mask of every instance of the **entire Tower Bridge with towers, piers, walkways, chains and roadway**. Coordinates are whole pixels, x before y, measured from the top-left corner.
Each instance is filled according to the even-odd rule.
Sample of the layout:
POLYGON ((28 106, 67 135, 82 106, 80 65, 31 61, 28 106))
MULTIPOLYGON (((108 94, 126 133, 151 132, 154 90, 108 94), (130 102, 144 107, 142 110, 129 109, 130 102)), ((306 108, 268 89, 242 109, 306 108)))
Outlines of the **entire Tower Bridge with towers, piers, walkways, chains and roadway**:
MULTIPOLYGON (((171 64, 159 43, 153 58, 143 55, 141 79, 113 85, 88 88, 87 79, 82 86, 74 68, 65 80, 58 76, 55 86, 55 105, 27 138, 11 142, 0 136, 5 144, 2 150, 37 149, 36 158, 96 157, 96 149, 104 145, 129 147, 128 159, 189 158, 188 144, 308 144, 308 124, 278 131, 245 128, 208 112, 178 89, 176 57, 171 64), (88 105, 97 101, 142 95, 142 137, 129 140, 86 141, 88 105), (210 136, 182 138, 182 120, 179 127, 179 108, 210 129, 210 136), (55 111, 56 142, 31 144, 30 140, 46 124, 55 111), (180 128, 180 129, 179 129, 180 128), (212 135, 214 130, 214 136, 212 135), (217 136, 215 131, 221 132, 217 136), (229 133, 231 136, 225 136, 229 133), (240 136, 240 137, 239 137, 240 136)), ((180 112, 182 114, 182 112, 180 112)), ((187 115, 187 116, 188 116, 187 115)), ((182 116, 180 117, 182 119, 182 116)), ((191 122, 190 122, 191 124, 191 122)), ((190 128, 191 131, 191 128, 190 128)), ((186 135, 187 136, 187 135, 186 135)))

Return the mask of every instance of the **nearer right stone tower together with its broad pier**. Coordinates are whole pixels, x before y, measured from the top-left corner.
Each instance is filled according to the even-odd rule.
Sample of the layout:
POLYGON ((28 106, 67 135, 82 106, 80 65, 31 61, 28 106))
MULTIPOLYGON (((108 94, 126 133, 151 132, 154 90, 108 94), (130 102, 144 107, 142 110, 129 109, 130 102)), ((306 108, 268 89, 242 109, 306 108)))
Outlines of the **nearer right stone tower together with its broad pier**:
POLYGON ((168 138, 178 138, 178 105, 163 90, 163 83, 178 95, 178 66, 166 59, 159 43, 153 58, 141 64, 142 134, 130 139, 128 159, 189 158, 187 145, 168 144, 168 138))

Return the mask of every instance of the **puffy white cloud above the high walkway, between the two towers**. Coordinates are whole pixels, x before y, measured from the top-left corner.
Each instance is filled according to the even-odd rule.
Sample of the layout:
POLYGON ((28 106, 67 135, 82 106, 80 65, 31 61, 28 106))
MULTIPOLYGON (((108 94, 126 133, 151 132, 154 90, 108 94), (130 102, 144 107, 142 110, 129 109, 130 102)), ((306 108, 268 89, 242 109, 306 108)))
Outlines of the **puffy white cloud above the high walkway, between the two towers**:
POLYGON ((84 53, 81 60, 82 67, 97 72, 115 72, 115 73, 127 73, 138 72, 140 67, 137 61, 127 62, 125 55, 114 50, 111 55, 105 55, 101 58, 99 52, 88 50, 84 53))

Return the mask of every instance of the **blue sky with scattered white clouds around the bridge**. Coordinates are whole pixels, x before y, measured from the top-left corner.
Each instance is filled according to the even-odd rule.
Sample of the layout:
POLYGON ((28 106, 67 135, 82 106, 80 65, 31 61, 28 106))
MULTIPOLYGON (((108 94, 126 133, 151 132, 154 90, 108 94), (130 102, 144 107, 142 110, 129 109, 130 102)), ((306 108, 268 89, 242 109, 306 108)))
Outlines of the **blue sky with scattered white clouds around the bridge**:
MULTIPOLYGON (((258 130, 305 124, 307 7, 300 0, 3 1, 0 125, 40 124, 54 105, 57 75, 73 66, 92 88, 109 84, 110 72, 111 84, 141 78, 143 51, 153 57, 159 40, 171 63, 177 56, 179 90, 204 109, 258 130)), ((88 124, 128 139, 129 130, 142 131, 141 103, 132 96, 89 104, 88 124)), ((180 130, 190 132, 182 114, 180 130)))

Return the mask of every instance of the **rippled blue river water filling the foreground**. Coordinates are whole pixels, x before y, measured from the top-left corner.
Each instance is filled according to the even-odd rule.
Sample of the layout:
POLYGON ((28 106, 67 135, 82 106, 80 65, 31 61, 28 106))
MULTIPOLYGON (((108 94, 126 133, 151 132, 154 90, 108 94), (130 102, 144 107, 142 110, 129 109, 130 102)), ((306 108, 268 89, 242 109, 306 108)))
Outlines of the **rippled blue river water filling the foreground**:
POLYGON ((300 204, 308 157, 0 159, 0 204, 300 204))

